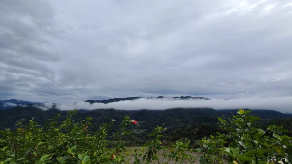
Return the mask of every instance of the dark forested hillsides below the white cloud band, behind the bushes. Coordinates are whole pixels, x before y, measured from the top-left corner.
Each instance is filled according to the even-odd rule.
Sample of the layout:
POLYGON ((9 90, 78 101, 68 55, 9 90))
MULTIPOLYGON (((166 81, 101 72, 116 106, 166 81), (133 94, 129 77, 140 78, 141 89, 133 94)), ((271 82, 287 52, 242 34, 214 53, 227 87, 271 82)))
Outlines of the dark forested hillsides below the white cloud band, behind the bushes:
MULTIPOLYGON (((132 135, 124 138, 127 146, 142 146, 148 141, 149 133, 156 126, 164 126, 167 130, 164 132, 162 140, 164 143, 173 143, 178 139, 187 138, 191 145, 197 145, 197 140, 204 136, 215 135, 216 132, 222 132, 219 129, 218 117, 222 115, 229 117, 230 113, 236 113, 237 110, 215 110, 211 108, 175 108, 166 110, 115 110, 115 109, 96 109, 96 110, 78 110, 74 116, 75 121, 85 120, 91 117, 92 126, 89 127, 91 132, 99 130, 104 123, 108 123, 111 119, 116 120, 112 127, 108 129, 109 137, 118 130, 118 124, 125 116, 130 115, 135 118, 139 124, 130 126, 133 131, 132 135)), ((45 121, 59 113, 61 116, 57 124, 61 124, 65 120, 68 113, 58 109, 41 110, 34 106, 14 107, 12 109, 0 109, 0 129, 10 128, 16 130, 18 127, 15 123, 22 122, 27 124, 34 117, 34 121, 38 125, 43 126, 45 121)), ((292 131, 292 119, 284 119, 291 116, 285 115, 274 110, 253 110, 253 114, 261 117, 261 121, 256 123, 257 128, 267 128, 271 124, 283 125, 285 129, 292 131), (272 119, 278 120, 273 121, 272 119), (281 118, 281 120, 279 120, 281 118)), ((292 134, 292 133, 291 133, 292 134)))

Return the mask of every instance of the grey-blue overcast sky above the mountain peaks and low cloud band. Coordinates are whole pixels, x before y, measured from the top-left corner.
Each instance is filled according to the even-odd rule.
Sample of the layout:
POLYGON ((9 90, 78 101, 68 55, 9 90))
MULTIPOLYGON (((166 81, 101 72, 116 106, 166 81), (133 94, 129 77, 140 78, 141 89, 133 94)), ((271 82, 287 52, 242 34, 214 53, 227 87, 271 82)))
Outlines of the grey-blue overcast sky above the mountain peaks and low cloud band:
POLYGON ((292 100, 292 1, 0 0, 0 100, 182 95, 292 100))

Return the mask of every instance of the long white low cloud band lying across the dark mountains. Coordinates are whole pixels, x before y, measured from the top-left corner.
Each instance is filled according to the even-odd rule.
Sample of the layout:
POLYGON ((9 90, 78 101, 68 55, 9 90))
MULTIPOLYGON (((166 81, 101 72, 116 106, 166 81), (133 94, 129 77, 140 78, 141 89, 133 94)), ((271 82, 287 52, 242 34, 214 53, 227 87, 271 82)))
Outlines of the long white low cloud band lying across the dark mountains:
MULTIPOLYGON (((273 109, 281 112, 292 112, 292 97, 270 97, 270 98, 238 98, 238 99, 211 99, 211 100, 174 100, 171 98, 146 99, 140 98, 129 101, 119 101, 109 104, 88 102, 76 102, 71 104, 54 104, 60 110, 72 109, 170 109, 170 108, 201 108, 213 109, 273 109)), ((41 109, 49 109, 53 104, 46 103, 41 109)))

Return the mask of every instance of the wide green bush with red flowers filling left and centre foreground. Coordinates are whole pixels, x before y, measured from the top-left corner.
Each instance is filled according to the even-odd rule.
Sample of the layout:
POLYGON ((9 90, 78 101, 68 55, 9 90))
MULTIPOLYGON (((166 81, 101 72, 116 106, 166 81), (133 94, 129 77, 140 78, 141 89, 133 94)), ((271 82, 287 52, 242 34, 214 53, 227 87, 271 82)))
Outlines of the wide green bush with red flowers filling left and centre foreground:
POLYGON ((119 130, 111 136, 114 140, 109 141, 107 131, 114 120, 92 133, 88 129, 91 118, 74 122, 75 114, 76 110, 69 111, 60 125, 56 122, 59 114, 43 127, 30 120, 27 125, 18 123, 17 131, 0 131, 0 164, 167 164, 170 160, 194 163, 187 154, 192 151, 188 142, 162 146, 161 133, 166 128, 155 128, 150 135, 152 140, 129 156, 123 137, 131 134, 128 126, 138 122, 124 117, 119 130))

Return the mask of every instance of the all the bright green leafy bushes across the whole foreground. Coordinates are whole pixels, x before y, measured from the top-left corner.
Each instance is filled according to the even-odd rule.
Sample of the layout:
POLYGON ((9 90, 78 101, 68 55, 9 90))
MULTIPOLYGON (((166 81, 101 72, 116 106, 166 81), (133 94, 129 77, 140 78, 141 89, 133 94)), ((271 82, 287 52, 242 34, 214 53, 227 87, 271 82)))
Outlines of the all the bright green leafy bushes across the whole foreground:
MULTIPOLYGON (((291 164, 290 131, 276 125, 256 128, 259 117, 250 112, 239 109, 227 120, 218 117, 220 132, 201 139, 200 148, 195 149, 201 152, 201 164, 291 164)), ((146 144, 129 154, 125 141, 139 133, 140 123, 125 116, 118 125, 111 120, 91 131, 91 118, 75 121, 76 114, 76 110, 69 111, 61 123, 58 113, 44 126, 32 119, 25 125, 18 122, 16 130, 0 130, 0 164, 195 164, 193 146, 183 140, 184 133, 165 144, 166 128, 157 126, 146 144), (115 132, 109 133, 112 129, 115 132)), ((199 128, 185 128, 200 135, 199 128)))

